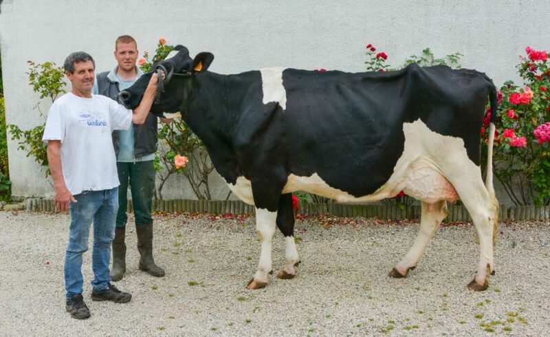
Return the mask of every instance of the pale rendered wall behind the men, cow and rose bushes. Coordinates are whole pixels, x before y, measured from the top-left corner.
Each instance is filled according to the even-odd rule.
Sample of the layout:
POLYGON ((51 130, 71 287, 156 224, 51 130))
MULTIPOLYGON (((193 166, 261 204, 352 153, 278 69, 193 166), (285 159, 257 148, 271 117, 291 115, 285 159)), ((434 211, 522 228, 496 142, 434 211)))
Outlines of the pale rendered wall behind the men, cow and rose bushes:
MULTIPOLYGON (((26 61, 61 65, 84 50, 98 71, 111 69, 120 34, 133 35, 140 52, 153 52, 159 37, 191 54, 212 52, 210 70, 221 74, 267 66, 360 72, 367 43, 393 65, 430 47, 438 56, 461 52, 464 67, 485 72, 497 86, 518 80, 514 66, 527 45, 550 47, 547 1, 4 0, 0 10, 6 118, 23 129, 41 122, 26 61)), ((17 144, 10 142, 9 151, 14 195, 52 193, 17 144)), ((173 186, 167 197, 190 197, 183 180, 173 186)))

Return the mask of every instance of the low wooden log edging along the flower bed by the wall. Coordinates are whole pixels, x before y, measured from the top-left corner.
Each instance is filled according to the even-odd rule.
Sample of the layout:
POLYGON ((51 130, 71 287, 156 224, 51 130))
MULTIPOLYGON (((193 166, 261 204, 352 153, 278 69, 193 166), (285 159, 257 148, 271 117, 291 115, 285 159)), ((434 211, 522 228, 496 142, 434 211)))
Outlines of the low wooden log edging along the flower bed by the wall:
MULTIPOLYGON (((361 204, 299 204, 298 213, 303 215, 331 215, 333 217, 377 217, 378 219, 420 219, 420 206, 361 205, 361 204)), ((54 211, 52 199, 27 199, 27 210, 54 211)), ((131 212, 132 202, 128 202, 131 212)), ((449 214, 445 221, 472 221, 464 206, 448 206, 449 214)), ((254 206, 238 200, 153 200, 153 211, 177 213, 210 213, 210 214, 245 214, 254 212, 254 206)), ((501 206, 498 210, 500 220, 547 220, 550 219, 550 206, 501 206)))

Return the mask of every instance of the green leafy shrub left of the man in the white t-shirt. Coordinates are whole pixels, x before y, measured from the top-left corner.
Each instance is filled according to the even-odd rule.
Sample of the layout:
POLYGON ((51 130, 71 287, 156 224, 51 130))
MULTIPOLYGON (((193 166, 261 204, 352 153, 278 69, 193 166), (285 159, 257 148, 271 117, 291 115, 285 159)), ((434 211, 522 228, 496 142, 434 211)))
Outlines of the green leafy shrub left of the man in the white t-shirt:
MULTIPOLYGON (((29 63, 29 85, 32 86, 34 92, 40 94, 40 98, 50 98, 52 103, 59 94, 65 93, 65 72, 62 67, 58 67, 53 62, 45 63, 29 63)), ((18 149, 27 151, 27 157, 34 157, 34 161, 39 163, 45 169, 46 177, 50 175, 50 168, 47 162, 47 145, 42 142, 42 135, 45 127, 45 116, 40 110, 40 102, 36 103, 36 109, 39 110, 40 116, 44 118, 44 122, 30 130, 21 130, 17 125, 10 124, 10 133, 12 140, 19 140, 18 149)))

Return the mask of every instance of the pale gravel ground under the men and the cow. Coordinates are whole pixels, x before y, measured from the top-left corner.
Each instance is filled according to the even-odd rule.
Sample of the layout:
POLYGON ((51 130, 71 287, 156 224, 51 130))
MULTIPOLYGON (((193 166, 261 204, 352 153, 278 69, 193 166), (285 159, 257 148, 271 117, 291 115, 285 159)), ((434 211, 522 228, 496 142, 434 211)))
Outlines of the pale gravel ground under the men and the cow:
MULTIPOLYGON (((375 219, 301 219, 298 277, 272 277, 246 290, 260 246, 253 218, 156 215, 155 259, 166 276, 137 270, 133 220, 127 272, 116 285, 131 303, 91 301, 91 250, 85 254, 88 320, 65 312, 65 214, 0 212, 2 336, 548 336, 550 224, 500 224, 496 275, 472 292, 478 244, 469 224, 445 226, 407 279, 387 273, 406 254, 418 224, 375 219), (327 226, 329 223, 329 226, 327 226)), ((91 246, 90 246, 91 247, 91 246)), ((283 236, 273 263, 284 263, 283 236)))

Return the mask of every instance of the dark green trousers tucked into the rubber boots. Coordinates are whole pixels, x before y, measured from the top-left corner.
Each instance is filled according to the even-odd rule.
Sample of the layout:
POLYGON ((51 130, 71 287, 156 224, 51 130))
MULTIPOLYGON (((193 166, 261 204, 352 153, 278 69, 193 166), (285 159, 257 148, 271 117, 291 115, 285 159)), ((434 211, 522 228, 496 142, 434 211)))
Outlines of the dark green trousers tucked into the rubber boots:
POLYGON ((128 184, 132 193, 133 213, 135 224, 153 224, 151 217, 151 206, 153 204, 153 191, 155 190, 155 166, 153 160, 146 162, 117 162, 118 180, 118 214, 116 215, 116 226, 124 227, 128 222, 128 184))

